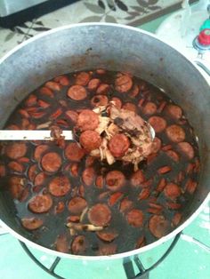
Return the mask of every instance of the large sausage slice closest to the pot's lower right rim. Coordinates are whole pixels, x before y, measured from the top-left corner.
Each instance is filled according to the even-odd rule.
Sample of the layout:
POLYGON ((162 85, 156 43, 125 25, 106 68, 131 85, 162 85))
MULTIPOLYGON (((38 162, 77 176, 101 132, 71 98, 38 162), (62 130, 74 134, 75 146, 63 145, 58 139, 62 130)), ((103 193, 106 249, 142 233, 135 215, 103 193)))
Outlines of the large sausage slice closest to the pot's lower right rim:
POLYGON ((169 232, 169 221, 163 215, 153 215, 149 219, 149 230, 152 235, 161 238, 169 232))

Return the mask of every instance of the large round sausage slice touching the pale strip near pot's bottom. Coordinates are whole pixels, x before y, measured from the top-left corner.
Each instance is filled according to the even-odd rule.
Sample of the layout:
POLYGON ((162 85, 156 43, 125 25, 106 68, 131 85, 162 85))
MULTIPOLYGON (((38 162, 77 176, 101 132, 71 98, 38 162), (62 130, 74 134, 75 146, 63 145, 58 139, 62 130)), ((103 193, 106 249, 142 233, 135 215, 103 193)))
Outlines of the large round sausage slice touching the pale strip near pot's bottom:
POLYGON ((105 227, 109 225, 111 211, 104 203, 97 203, 88 211, 88 219, 94 226, 105 227))

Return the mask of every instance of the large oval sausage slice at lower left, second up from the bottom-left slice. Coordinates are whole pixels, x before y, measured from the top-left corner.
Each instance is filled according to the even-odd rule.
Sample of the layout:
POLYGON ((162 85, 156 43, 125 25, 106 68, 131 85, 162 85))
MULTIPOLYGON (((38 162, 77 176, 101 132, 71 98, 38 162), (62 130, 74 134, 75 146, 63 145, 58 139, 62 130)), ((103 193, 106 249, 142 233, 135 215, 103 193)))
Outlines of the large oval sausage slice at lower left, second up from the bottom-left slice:
POLYGON ((35 195, 28 203, 28 209, 34 213, 44 213, 52 207, 50 195, 35 195))

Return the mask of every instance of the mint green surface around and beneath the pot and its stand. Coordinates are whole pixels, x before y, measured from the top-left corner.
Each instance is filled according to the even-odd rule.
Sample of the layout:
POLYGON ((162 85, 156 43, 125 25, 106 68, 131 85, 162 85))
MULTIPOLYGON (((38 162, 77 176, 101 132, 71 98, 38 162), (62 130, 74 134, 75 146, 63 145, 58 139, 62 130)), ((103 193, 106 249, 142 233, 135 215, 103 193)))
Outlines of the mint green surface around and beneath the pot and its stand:
MULTIPOLYGON (((141 28, 154 32, 158 25, 166 18, 151 21, 141 28)), ((187 235, 196 237, 210 246, 210 219, 209 207, 206 208, 189 227, 184 230, 187 235)), ((143 253, 141 261, 145 267, 151 266, 166 251, 170 242, 143 253)), ((6 234, 0 236, 0 279, 52 279, 20 246, 20 243, 6 234)), ((31 250, 46 267, 52 265, 55 257, 40 251, 31 250)), ((77 260, 61 259, 55 270, 68 279, 125 279, 125 272, 121 260, 112 262, 81 262, 77 260)), ((169 256, 149 275, 149 279, 210 279, 210 252, 195 243, 182 239, 174 247, 169 256)))

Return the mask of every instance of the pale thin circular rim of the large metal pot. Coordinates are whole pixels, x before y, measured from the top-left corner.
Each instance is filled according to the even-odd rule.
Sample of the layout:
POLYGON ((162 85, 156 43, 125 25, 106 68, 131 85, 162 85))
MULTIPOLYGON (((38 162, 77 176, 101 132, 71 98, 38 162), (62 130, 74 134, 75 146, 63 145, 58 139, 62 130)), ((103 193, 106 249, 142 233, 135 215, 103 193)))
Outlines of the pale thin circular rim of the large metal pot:
MULTIPOLYGON (((62 26, 60 28, 52 28, 52 30, 49 31, 45 31, 44 33, 38 34, 32 38, 29 38, 27 41, 15 46, 11 51, 7 52, 3 58, 0 59, 0 65, 2 63, 4 63, 4 60, 6 60, 8 57, 12 56, 12 54, 14 52, 18 52, 22 47, 24 47, 27 44, 33 43, 34 41, 38 40, 39 38, 42 38, 44 36, 48 36, 50 34, 59 32, 60 30, 64 30, 64 29, 69 29, 69 28, 78 28, 78 27, 82 27, 82 26, 110 26, 110 27, 115 27, 115 28, 126 28, 126 29, 130 29, 133 30, 135 32, 139 32, 140 34, 145 34, 147 36, 151 36, 155 39, 157 39, 158 41, 160 41, 163 44, 167 44, 166 42, 164 42, 163 40, 161 40, 160 38, 158 38, 158 36, 149 33, 148 31, 144 31, 141 30, 141 28, 133 28, 130 26, 126 26, 123 24, 116 24, 116 23, 104 23, 104 22, 91 22, 91 23, 77 23, 77 24, 70 24, 70 25, 66 25, 66 26, 62 26)), ((174 49, 173 46, 171 46, 170 44, 167 44, 169 47, 171 47, 172 49, 174 49)), ((188 62, 190 62, 191 66, 194 68, 197 68, 198 73, 200 74, 200 76, 202 76, 204 78, 204 80, 206 80, 205 76, 203 76, 201 74, 201 72, 199 71, 198 66, 193 63, 190 59, 188 59, 187 57, 185 57, 182 52, 179 52, 177 50, 174 49, 174 51, 180 53, 180 55, 182 55, 182 57, 187 60, 188 62)), ((117 253, 114 255, 109 255, 109 256, 79 256, 79 255, 73 255, 73 254, 68 254, 68 253, 63 253, 60 251, 54 251, 51 250, 49 248, 45 248, 44 246, 41 246, 37 243, 32 242, 31 240, 28 240, 28 238, 18 234, 17 232, 15 232, 11 227, 9 227, 8 225, 6 225, 4 223, 3 220, 0 219, 0 225, 2 227, 4 227, 11 235, 13 235, 14 237, 16 237, 17 239, 19 239, 21 242, 28 244, 28 246, 35 248, 39 251, 44 251, 48 254, 57 256, 57 257, 61 257, 61 258, 68 258, 68 259, 82 259, 82 260, 99 260, 99 259, 122 259, 122 258, 126 258, 126 257, 130 257, 145 251, 149 251, 152 248, 157 247, 158 245, 160 245, 161 243, 165 243, 167 240, 172 239, 175 235, 177 235, 178 233, 180 233, 185 227, 189 226, 190 223, 192 222, 193 219, 195 219, 198 214, 204 209, 204 207, 206 206, 206 204, 208 203, 208 201, 210 201, 210 193, 208 195, 206 195, 206 198, 204 199, 204 201, 200 204, 200 206, 198 207, 198 209, 196 211, 194 211, 191 215, 190 218, 187 219, 186 221, 184 221, 182 223, 181 226, 176 227, 171 233, 169 233, 166 236, 161 237, 160 239, 158 239, 157 241, 155 241, 154 243, 150 243, 144 247, 141 247, 139 249, 136 250, 132 250, 132 251, 126 251, 123 253, 117 253)))

